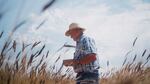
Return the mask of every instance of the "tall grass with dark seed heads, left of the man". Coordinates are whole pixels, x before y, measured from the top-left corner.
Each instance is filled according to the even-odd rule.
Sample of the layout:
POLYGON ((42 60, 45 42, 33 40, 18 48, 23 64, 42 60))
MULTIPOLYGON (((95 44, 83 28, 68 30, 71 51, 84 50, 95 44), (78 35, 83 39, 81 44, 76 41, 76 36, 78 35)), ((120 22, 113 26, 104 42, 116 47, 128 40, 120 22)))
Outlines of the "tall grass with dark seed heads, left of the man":
MULTIPOLYGON (((3 33, 3 32, 2 32, 3 33)), ((1 34, 1 37, 2 34, 1 34)), ((71 79, 72 73, 70 75, 62 75, 61 68, 55 72, 55 65, 51 66, 49 70, 47 63, 44 61, 48 57, 49 51, 43 55, 43 51, 46 45, 43 45, 41 49, 37 50, 35 53, 30 54, 26 52, 26 48, 30 47, 31 50, 36 49, 36 46, 41 42, 35 42, 33 44, 25 45, 22 43, 21 50, 17 47, 19 44, 14 40, 7 39, 4 43, 1 53, 0 53, 0 84, 71 84, 73 80, 71 79), (12 45, 11 45, 12 44, 12 45), (20 52, 17 52, 20 51, 20 52), (9 54, 9 51, 11 54, 9 54), (16 54, 16 56, 14 56, 16 54), (33 66, 34 60, 38 56, 42 56, 36 65, 33 66), (12 61, 15 58, 15 61, 12 61)), ((56 62, 59 60, 56 59, 56 62)))

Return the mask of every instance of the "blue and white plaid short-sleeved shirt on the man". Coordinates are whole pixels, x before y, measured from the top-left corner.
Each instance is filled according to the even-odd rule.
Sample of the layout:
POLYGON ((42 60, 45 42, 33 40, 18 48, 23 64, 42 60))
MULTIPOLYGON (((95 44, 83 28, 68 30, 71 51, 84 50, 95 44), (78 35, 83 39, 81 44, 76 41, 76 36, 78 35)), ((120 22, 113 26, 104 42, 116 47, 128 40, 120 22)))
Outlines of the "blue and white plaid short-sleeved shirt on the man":
POLYGON ((81 35, 78 41, 76 42, 76 50, 74 53, 74 59, 80 60, 85 57, 87 54, 95 53, 96 60, 89 64, 78 64, 73 66, 76 73, 79 72, 94 72, 99 68, 99 58, 97 57, 97 48, 95 41, 92 38, 89 38, 85 35, 81 35))

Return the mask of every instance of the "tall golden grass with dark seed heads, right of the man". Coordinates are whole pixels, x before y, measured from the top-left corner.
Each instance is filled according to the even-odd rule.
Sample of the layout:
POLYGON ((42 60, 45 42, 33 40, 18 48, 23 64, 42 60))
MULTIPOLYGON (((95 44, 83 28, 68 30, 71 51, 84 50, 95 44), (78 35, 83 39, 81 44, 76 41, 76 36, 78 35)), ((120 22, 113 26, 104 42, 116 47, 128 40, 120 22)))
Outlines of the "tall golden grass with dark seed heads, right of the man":
MULTIPOLYGON (((133 47, 137 41, 137 37, 133 42, 133 47)), ((145 56, 146 50, 141 57, 145 56)), ((127 56, 132 50, 125 55, 122 68, 117 71, 110 71, 102 74, 101 84, 150 84, 150 66, 146 66, 150 60, 150 54, 146 57, 146 62, 136 62, 137 54, 135 54, 132 62, 127 62, 127 56)))

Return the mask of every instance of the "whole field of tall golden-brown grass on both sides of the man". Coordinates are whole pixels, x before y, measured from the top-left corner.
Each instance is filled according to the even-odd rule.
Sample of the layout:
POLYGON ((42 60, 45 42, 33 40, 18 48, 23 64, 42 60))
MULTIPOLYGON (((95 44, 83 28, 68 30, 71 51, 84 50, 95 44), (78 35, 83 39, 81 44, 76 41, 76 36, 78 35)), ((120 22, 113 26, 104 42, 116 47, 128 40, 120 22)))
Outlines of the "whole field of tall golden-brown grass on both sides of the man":
MULTIPOLYGON (((3 38, 3 34, 4 32, 2 31, 0 33, 1 39, 3 38)), ((69 69, 66 70, 66 74, 61 74, 63 65, 57 72, 54 72, 55 65, 50 66, 49 70, 46 70, 48 66, 43 60, 48 57, 49 51, 42 53, 46 45, 36 50, 36 46, 41 42, 29 45, 22 43, 22 48, 18 48, 19 44, 15 40, 12 40, 11 36, 6 39, 1 48, 0 84, 75 84, 75 77, 72 76, 73 72, 69 69), (27 48, 31 48, 32 51, 35 49, 36 52, 28 54, 26 51, 27 48), (33 66, 33 63, 39 56, 42 58, 33 66)), ((146 50, 142 56, 145 55, 145 52, 146 50)), ((132 63, 127 63, 125 59, 120 70, 102 73, 100 84, 149 84, 150 67, 146 67, 145 65, 149 62, 150 55, 147 56, 145 63, 135 63, 135 59, 136 56, 132 63)), ((59 57, 55 62, 58 60, 59 57)))

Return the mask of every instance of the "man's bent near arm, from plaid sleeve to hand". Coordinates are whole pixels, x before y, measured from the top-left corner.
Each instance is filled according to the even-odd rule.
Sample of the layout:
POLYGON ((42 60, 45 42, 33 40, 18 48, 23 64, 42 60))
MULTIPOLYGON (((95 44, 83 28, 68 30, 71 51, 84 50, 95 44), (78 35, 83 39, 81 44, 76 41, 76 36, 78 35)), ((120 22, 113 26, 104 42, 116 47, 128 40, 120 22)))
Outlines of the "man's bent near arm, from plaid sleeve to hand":
POLYGON ((91 38, 84 38, 82 40, 82 51, 84 52, 85 56, 80 59, 71 59, 71 60, 65 60, 64 65, 66 66, 73 66, 78 64, 89 64, 96 60, 96 46, 95 41, 91 38))

